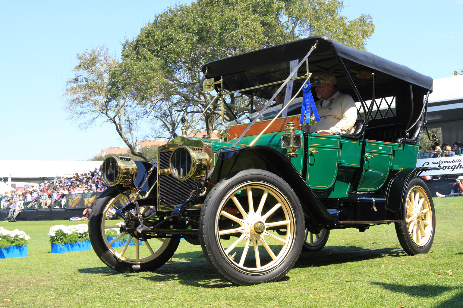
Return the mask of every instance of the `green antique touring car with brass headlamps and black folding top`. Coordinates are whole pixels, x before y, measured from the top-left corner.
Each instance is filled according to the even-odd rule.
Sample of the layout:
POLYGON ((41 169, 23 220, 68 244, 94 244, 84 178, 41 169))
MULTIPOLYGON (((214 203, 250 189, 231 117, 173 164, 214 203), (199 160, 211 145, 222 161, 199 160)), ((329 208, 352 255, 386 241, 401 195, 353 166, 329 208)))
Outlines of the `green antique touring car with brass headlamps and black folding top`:
POLYGON ((155 165, 118 156, 103 162, 110 187, 95 202, 89 233, 107 266, 156 270, 185 239, 201 245, 221 277, 259 284, 285 276, 301 251, 322 249, 330 230, 384 223, 395 224, 407 254, 429 251, 434 205, 418 177, 429 168, 415 163, 430 77, 325 36, 212 61, 202 71, 197 91, 215 91, 220 105, 217 139, 192 137, 184 125, 159 147, 155 165), (308 85, 319 73, 353 98, 350 133, 311 130, 317 116, 308 85), (274 104, 282 90, 284 102, 274 104), (114 247, 119 239, 125 245, 114 247))

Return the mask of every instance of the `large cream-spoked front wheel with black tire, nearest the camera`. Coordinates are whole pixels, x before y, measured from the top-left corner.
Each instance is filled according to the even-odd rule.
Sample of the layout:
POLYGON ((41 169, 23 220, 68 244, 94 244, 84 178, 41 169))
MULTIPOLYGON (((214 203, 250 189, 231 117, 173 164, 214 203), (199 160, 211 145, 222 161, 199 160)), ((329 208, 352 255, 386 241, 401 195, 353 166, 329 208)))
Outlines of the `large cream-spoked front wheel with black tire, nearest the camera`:
MULTIPOLYGON (((229 210, 227 209, 227 211, 229 210)), ((234 221, 237 222, 237 220, 234 221)), ((220 276, 233 284, 260 284, 281 279, 294 266, 302 249, 304 225, 304 214, 299 199, 288 183, 271 172, 247 169, 224 177, 208 193, 200 215, 200 242, 207 261, 220 276), (247 192, 244 197, 241 197, 241 190, 247 192), (263 198, 266 190, 268 193, 263 198), (249 191, 252 198, 249 197, 249 191), (243 203, 241 210, 231 199, 232 197, 238 198, 238 194, 241 199, 238 203, 240 205, 243 203), (257 199, 259 197, 260 199, 257 199), (254 204, 251 215, 248 206, 249 200, 253 200, 254 204), (262 200, 265 200, 263 208, 257 205, 262 200), (219 239, 218 231, 221 220, 227 226, 226 228, 228 228, 227 223, 233 222, 234 219, 230 219, 230 215, 225 213, 225 205, 232 207, 233 204, 238 209, 238 213, 234 214, 236 215, 235 218, 241 217, 243 219, 241 224, 238 223, 238 229, 241 228, 242 230, 242 232, 237 231, 238 234, 241 233, 239 239, 243 237, 241 242, 246 242, 244 247, 228 246, 228 249, 231 249, 230 255, 228 255, 224 245, 227 246, 230 242, 226 242, 223 238, 219 239), (275 209, 275 211, 269 209, 275 209), (265 217, 266 215, 267 217, 265 217), (279 220, 281 217, 285 220, 279 220), (266 219, 269 221, 267 222, 266 219), (276 231, 269 229, 269 227, 281 226, 283 222, 287 222, 285 223, 287 231, 280 232, 280 236, 283 236, 283 242, 279 242, 281 238, 277 238, 278 236, 275 236, 276 231), (256 232, 261 232, 261 234, 255 234, 256 232), (254 247, 254 252, 251 251, 249 254, 247 245, 251 249, 254 247), (241 248, 243 251, 240 252, 241 248), (232 255, 235 249, 237 251, 232 255), (276 252, 274 253, 273 250, 276 252), (236 256, 238 252, 240 254, 236 256), (237 258, 241 256, 239 263, 238 260, 235 262, 234 256, 237 258), (267 260, 269 262, 263 264, 267 260)), ((220 231, 227 233, 229 232, 227 230, 236 230, 233 224, 230 229, 226 228, 224 229, 222 225, 220 231)), ((237 232, 230 231, 229 233, 237 234, 237 232)), ((233 238, 231 243, 236 243, 240 241, 239 239, 233 238)))

